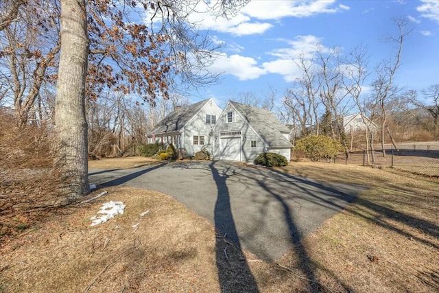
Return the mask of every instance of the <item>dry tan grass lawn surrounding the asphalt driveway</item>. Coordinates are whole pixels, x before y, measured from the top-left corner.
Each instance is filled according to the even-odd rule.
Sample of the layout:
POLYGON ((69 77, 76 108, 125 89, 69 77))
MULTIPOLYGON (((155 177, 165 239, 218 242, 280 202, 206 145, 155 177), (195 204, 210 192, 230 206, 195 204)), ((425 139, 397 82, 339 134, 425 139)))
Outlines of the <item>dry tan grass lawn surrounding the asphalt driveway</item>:
MULTIPOLYGON (((148 163, 143 159, 98 163, 115 169, 148 163)), ((439 291, 437 179, 325 163, 279 170, 369 189, 276 263, 265 263, 170 196, 112 187, 3 239, 0 292, 439 291), (125 213, 91 227, 110 200, 123 201, 125 213)))

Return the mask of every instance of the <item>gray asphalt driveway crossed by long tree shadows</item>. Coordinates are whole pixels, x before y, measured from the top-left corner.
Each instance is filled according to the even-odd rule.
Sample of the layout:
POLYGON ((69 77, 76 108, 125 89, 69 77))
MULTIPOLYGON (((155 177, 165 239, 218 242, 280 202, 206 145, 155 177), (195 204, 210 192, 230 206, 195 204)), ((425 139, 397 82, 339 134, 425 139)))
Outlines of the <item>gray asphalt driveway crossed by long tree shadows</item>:
POLYGON ((169 194, 210 220, 239 246, 274 261, 366 187, 322 185, 272 169, 225 161, 161 163, 151 167, 90 170, 91 183, 169 194))

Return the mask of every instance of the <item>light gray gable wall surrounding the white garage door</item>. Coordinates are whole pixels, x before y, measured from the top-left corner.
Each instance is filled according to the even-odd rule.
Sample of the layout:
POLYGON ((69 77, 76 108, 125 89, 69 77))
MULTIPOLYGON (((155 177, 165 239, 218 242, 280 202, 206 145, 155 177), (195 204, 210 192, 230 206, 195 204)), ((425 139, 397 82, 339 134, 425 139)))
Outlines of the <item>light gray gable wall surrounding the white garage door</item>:
MULTIPOLYGON (((252 161, 261 152, 264 151, 263 141, 256 133, 248 126, 247 122, 242 119, 230 104, 219 117, 217 125, 215 126, 215 136, 213 142, 213 158, 220 159, 221 155, 221 133, 224 132, 241 132, 241 161, 252 161), (226 123, 227 113, 233 112, 233 122, 226 123), (252 148, 251 142, 256 141, 256 147, 252 148)), ((228 134, 223 137, 235 137, 239 134, 228 134)))

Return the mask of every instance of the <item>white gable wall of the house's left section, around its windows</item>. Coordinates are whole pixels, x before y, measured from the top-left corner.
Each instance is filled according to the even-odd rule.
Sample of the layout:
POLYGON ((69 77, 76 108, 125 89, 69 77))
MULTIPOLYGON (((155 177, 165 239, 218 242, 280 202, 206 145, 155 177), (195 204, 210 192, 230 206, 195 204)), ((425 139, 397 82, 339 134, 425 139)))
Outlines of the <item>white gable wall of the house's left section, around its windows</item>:
POLYGON ((206 124, 206 114, 215 115, 218 120, 219 115, 221 114, 221 109, 219 109, 215 102, 211 100, 207 102, 200 112, 197 113, 197 115, 195 115, 185 126, 181 137, 181 143, 182 148, 185 148, 189 155, 193 156, 203 148, 206 148, 212 153, 213 137, 209 136, 209 134, 211 134, 212 128, 215 124, 206 124), (194 135, 204 136, 204 145, 193 145, 194 135))

